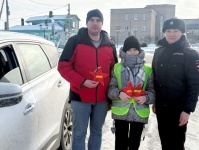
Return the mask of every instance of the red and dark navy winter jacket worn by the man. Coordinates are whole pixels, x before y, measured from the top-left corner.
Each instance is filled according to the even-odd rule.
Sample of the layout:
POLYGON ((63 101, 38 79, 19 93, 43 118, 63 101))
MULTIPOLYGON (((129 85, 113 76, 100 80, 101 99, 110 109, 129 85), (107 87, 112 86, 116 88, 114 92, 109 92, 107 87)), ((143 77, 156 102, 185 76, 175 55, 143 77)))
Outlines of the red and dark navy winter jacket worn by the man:
POLYGON ((105 31, 101 31, 101 39, 99 47, 95 48, 88 29, 81 28, 66 43, 58 62, 58 71, 70 83, 70 100, 92 103, 107 100, 110 76, 104 78, 104 86, 100 83, 96 88, 82 86, 85 80, 93 80, 90 72, 94 72, 97 67, 101 67, 103 73, 110 74, 117 62, 116 49, 105 31))

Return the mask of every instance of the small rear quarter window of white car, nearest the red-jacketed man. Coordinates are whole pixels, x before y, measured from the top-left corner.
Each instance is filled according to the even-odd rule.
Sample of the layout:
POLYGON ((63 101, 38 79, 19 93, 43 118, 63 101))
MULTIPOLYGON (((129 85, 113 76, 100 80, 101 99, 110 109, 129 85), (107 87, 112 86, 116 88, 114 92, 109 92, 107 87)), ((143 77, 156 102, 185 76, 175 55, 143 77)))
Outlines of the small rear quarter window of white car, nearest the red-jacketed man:
POLYGON ((45 48, 46 48, 45 52, 50 57, 50 59, 53 63, 53 67, 57 66, 57 62, 59 59, 59 53, 58 53, 57 48, 55 46, 50 46, 50 45, 45 45, 45 48))

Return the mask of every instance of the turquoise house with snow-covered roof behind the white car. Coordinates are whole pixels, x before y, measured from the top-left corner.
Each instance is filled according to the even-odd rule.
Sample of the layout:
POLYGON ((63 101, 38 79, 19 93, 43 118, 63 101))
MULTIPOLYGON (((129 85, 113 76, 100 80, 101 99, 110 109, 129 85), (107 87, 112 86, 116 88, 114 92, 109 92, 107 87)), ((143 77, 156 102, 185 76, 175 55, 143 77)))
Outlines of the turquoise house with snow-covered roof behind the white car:
POLYGON ((9 30, 41 36, 64 45, 70 36, 77 34, 79 21, 77 15, 53 15, 50 11, 48 16, 28 18, 25 22, 29 25, 24 25, 24 19, 21 19, 21 25, 10 27, 9 30))

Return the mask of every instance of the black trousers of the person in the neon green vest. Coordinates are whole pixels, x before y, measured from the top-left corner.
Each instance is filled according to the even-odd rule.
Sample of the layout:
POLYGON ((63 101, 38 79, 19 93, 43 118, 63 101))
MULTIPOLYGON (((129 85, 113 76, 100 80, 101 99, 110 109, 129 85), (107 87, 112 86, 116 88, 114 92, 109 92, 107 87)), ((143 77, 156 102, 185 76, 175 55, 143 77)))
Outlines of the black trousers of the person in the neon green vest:
POLYGON ((115 120, 115 150, 138 150, 143 123, 115 120))

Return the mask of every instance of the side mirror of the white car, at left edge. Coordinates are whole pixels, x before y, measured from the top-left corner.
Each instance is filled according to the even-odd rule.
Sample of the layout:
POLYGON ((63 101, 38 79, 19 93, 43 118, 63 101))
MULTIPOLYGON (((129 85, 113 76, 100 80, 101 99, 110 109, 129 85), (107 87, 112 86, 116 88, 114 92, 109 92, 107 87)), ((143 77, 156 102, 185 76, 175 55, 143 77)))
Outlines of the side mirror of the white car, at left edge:
POLYGON ((0 108, 16 105, 22 100, 22 89, 13 83, 0 82, 0 108))

